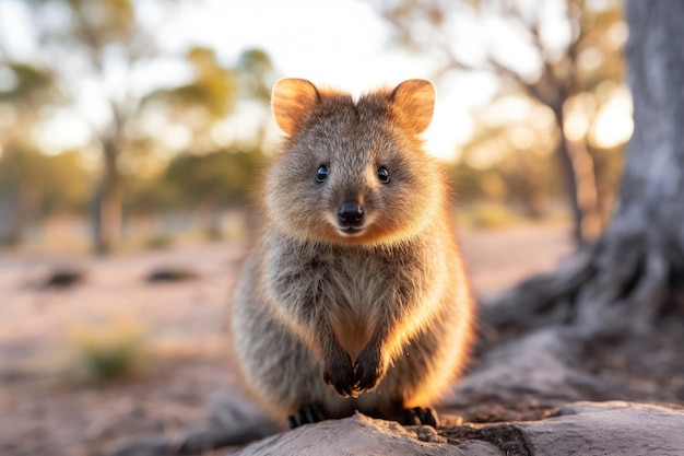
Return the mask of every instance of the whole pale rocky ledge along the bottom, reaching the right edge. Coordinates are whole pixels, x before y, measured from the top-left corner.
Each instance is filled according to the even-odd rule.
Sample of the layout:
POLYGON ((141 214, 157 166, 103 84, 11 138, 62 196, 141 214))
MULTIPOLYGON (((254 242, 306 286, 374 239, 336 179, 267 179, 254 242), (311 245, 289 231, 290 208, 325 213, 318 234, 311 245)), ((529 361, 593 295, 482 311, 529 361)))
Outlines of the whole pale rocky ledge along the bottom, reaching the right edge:
POLYGON ((272 435, 234 454, 671 456, 684 455, 683 429, 683 410, 624 401, 576 402, 542 420, 452 426, 438 433, 356 413, 272 435))

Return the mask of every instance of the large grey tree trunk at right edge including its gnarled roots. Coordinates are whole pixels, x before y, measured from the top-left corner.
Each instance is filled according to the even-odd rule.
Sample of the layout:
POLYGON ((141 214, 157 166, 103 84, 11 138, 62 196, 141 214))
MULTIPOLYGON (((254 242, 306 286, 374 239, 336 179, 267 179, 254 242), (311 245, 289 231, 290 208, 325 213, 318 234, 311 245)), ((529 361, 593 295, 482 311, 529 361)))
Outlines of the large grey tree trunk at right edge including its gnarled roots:
POLYGON ((585 340, 644 334, 684 282, 684 2, 627 2, 634 136, 610 229, 564 268, 486 309, 496 328, 575 328, 585 340))

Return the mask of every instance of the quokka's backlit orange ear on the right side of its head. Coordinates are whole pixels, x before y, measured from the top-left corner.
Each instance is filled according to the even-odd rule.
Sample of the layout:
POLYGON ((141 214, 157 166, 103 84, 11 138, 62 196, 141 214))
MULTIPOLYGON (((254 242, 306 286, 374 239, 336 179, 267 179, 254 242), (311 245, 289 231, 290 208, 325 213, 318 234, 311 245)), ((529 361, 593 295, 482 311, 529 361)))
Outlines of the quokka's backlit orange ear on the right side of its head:
POLYGON ((435 84, 425 79, 410 79, 397 85, 391 98, 404 128, 415 135, 425 131, 435 112, 435 84))

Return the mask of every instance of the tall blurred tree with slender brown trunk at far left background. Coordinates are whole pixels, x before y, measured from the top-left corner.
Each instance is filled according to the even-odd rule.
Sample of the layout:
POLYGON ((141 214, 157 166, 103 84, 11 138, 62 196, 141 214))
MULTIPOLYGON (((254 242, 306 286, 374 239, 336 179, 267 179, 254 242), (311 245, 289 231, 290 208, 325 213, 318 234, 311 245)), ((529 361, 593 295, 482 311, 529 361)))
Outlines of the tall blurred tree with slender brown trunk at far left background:
POLYGON ((138 108, 128 77, 155 54, 151 37, 139 26, 131 0, 32 0, 43 58, 59 75, 60 89, 75 100, 84 81, 103 86, 109 121, 93 125, 103 153, 95 191, 95 249, 110 252, 119 237, 123 175, 119 159, 131 145, 127 129, 138 108), (119 72, 113 85, 113 73, 119 72))

